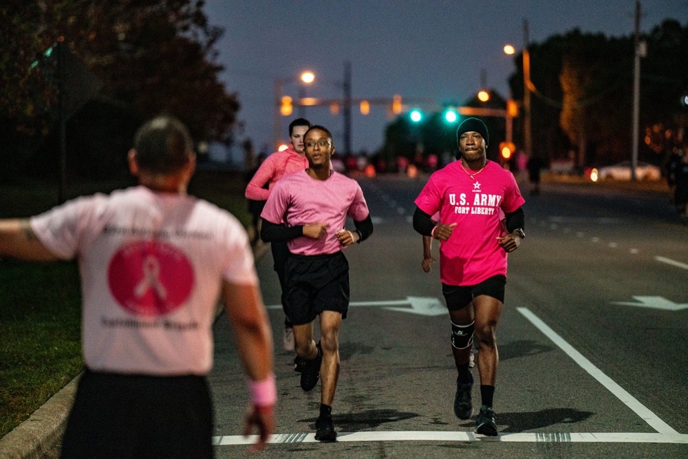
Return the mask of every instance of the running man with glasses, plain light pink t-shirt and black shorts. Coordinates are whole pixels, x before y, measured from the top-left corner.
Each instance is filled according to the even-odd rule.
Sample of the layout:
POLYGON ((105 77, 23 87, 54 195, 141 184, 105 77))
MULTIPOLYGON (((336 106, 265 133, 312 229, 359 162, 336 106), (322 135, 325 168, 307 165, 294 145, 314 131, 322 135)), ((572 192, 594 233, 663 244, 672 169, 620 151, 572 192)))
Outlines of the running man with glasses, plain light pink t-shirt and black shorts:
POLYGON ((261 237, 288 241, 291 255, 285 267, 284 298, 294 323, 297 356, 304 360, 301 388, 311 390, 322 374, 315 438, 334 441, 332 401, 339 375, 339 328, 349 307, 349 264, 342 249, 365 240, 373 224, 361 186, 332 171, 330 131, 313 126, 304 138, 308 169, 275 185, 261 214, 261 237), (354 220, 354 231, 344 228, 347 216, 354 220), (321 341, 316 344, 313 325, 318 314, 321 341))

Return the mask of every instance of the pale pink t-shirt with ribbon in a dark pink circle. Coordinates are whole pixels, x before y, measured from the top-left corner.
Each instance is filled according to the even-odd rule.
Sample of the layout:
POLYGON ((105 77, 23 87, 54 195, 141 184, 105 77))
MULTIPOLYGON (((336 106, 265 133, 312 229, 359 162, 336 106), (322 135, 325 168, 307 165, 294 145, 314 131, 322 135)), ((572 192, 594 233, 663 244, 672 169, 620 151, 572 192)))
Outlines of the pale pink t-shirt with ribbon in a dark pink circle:
POLYGON ((52 253, 78 260, 92 370, 206 374, 222 280, 258 283, 238 220, 191 196, 135 186, 69 201, 30 223, 52 253))

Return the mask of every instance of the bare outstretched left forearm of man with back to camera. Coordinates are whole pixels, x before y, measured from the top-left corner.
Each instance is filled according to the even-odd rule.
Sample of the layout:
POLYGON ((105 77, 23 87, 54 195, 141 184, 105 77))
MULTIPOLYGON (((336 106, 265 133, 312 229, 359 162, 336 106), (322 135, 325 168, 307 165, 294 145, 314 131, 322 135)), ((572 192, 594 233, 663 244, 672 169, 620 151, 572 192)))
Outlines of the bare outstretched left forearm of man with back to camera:
POLYGON ((28 261, 58 260, 36 237, 28 219, 0 220, 0 256, 28 261))

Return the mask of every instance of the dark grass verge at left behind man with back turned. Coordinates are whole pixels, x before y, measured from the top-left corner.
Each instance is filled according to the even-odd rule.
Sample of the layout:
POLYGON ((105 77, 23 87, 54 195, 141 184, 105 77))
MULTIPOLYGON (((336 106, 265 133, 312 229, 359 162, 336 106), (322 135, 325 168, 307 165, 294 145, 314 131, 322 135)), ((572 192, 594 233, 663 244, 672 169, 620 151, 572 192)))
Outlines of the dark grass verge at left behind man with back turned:
MULTIPOLYGON (((67 199, 128 186, 129 180, 68 184, 67 199)), ((198 171, 189 193, 248 225, 240 173, 198 171)), ((0 218, 28 217, 57 204, 56 184, 0 186, 0 218)), ((81 292, 74 261, 0 261, 0 438, 83 370, 81 292)))

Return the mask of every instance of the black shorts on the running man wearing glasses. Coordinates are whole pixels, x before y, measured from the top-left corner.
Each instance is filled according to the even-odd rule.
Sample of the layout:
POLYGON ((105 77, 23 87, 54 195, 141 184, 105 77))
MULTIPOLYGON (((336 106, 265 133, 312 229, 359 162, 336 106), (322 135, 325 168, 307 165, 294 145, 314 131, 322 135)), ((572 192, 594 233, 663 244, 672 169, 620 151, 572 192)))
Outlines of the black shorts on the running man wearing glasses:
POLYGON ((284 297, 294 325, 310 323, 323 311, 346 319, 349 308, 349 262, 341 251, 331 255, 290 255, 284 297))

